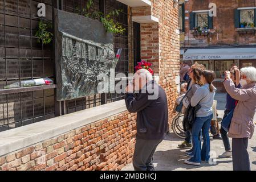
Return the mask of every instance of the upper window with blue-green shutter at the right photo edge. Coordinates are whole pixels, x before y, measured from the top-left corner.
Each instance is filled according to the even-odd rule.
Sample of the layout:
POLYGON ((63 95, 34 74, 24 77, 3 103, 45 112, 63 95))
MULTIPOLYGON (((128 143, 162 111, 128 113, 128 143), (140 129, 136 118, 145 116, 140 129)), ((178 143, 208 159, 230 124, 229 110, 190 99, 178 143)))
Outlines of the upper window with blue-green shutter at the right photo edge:
POLYGON ((234 20, 235 28, 253 28, 256 27, 256 8, 235 9, 234 20))

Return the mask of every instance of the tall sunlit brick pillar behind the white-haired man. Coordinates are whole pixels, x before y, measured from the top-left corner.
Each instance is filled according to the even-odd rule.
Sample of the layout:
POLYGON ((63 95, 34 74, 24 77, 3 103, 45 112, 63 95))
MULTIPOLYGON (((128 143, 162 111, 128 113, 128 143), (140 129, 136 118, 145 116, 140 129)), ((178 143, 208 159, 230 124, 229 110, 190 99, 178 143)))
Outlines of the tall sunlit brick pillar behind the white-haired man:
MULTIPOLYGON (((178 6, 173 1, 152 0, 151 15, 159 23, 144 23, 141 26, 141 59, 153 64, 159 73, 160 85, 168 97, 169 123, 173 119, 173 106, 177 97, 175 78, 180 73, 180 36, 178 29, 178 6)), ((145 7, 132 9, 132 15, 149 15, 145 7), (144 12, 141 13, 141 12, 144 12)))

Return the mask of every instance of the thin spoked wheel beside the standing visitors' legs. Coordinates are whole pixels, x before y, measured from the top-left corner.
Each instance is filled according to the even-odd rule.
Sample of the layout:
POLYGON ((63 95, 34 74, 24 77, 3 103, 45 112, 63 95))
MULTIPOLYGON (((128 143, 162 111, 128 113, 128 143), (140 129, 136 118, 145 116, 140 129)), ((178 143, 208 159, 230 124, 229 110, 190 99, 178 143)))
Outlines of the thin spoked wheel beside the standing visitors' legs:
POLYGON ((178 113, 176 117, 173 118, 172 121, 172 131, 177 137, 185 138, 185 131, 183 129, 182 121, 184 118, 184 114, 178 113))

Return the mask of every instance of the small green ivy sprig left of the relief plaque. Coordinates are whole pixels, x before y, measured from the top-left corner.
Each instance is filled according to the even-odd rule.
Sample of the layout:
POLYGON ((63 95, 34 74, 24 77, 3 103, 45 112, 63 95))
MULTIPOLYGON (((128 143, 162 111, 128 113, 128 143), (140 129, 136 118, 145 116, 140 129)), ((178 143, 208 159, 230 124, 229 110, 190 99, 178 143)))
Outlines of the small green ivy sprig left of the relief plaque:
POLYGON ((50 21, 40 20, 38 23, 38 30, 35 33, 36 38, 38 38, 38 43, 42 42, 43 44, 51 43, 53 38, 52 32, 49 29, 52 28, 52 24, 50 21))

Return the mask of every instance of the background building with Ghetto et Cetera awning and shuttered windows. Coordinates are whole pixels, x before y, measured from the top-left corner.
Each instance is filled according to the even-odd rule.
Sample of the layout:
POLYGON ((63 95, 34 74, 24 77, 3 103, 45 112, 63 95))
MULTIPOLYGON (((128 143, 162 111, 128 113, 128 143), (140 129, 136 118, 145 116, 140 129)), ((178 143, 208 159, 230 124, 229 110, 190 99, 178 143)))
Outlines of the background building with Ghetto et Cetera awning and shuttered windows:
POLYGON ((255 15, 255 0, 180 1, 181 61, 214 70, 223 90, 224 71, 232 65, 256 67, 255 15))

